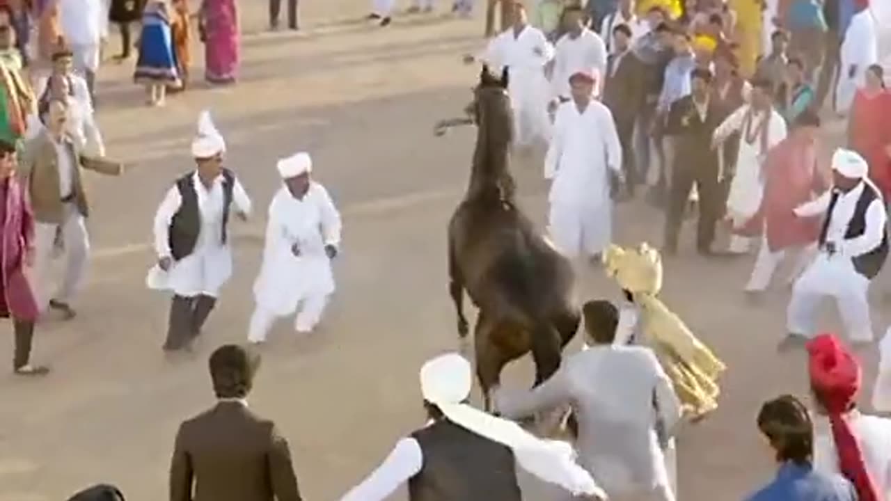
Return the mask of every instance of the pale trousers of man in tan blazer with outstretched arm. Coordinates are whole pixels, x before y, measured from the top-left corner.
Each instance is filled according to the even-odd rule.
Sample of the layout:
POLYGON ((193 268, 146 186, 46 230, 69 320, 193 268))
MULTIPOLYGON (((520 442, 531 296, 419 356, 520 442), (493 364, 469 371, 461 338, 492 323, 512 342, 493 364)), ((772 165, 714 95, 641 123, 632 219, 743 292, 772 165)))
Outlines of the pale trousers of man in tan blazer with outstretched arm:
POLYGON ((80 290, 86 276, 86 261, 89 257, 90 242, 86 234, 84 217, 73 203, 63 205, 64 215, 61 225, 37 222, 34 225, 34 289, 37 308, 45 311, 52 299, 68 303, 80 290), (65 242, 65 268, 58 292, 50 292, 53 265, 53 248, 56 230, 61 227, 65 242))

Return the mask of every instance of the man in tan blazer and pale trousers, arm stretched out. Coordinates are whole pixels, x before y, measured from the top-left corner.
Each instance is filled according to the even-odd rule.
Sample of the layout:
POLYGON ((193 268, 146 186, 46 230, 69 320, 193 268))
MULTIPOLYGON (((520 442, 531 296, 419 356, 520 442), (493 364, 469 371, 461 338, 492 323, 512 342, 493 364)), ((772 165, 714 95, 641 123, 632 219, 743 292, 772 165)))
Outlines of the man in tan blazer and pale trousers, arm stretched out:
POLYGON ((44 128, 25 145, 21 176, 28 183, 35 219, 35 288, 41 312, 47 306, 74 316, 69 301, 86 274, 89 240, 85 220, 89 215, 82 169, 119 176, 120 163, 86 158, 65 132, 68 104, 53 100, 39 110, 44 128), (64 277, 59 292, 49 297, 46 282, 53 258, 53 242, 61 233, 66 250, 64 277))

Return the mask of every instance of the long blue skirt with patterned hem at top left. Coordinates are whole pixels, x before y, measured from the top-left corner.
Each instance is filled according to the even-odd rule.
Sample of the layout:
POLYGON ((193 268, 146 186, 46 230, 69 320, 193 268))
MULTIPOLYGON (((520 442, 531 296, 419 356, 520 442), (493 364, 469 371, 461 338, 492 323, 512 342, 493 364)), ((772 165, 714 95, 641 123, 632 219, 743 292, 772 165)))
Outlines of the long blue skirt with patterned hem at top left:
POLYGON ((143 22, 143 36, 139 41, 139 60, 136 62, 133 75, 135 82, 179 86, 179 71, 170 25, 154 18, 145 19, 143 22))

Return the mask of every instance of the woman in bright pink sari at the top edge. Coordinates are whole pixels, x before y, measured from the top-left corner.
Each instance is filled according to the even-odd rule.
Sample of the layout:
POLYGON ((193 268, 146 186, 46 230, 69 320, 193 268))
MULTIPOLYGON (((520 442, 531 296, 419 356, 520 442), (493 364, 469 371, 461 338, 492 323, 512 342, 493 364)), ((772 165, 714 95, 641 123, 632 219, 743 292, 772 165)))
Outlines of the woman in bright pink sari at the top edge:
POLYGON ((239 27, 236 0, 202 0, 199 11, 204 42, 204 78, 211 84, 233 84, 238 75, 239 27))

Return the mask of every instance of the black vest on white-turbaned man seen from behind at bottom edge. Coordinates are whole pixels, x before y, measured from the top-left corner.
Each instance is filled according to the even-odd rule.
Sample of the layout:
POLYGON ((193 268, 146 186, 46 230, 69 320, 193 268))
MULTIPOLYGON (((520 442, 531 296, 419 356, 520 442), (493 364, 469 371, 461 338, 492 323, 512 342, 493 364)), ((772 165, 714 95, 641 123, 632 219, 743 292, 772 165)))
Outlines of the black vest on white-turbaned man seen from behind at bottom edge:
POLYGON ((446 419, 412 433, 424 456, 410 501, 520 501, 513 452, 446 419))

